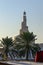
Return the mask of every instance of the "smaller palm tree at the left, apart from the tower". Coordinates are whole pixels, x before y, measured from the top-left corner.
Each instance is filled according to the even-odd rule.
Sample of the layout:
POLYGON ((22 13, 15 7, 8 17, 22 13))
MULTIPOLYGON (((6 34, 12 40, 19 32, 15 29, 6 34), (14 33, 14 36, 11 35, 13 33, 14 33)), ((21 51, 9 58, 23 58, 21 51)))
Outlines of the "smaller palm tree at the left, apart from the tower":
POLYGON ((2 38, 1 43, 4 45, 4 56, 6 56, 6 59, 7 59, 9 49, 10 49, 10 47, 13 46, 13 39, 8 38, 8 36, 7 36, 6 38, 2 38))

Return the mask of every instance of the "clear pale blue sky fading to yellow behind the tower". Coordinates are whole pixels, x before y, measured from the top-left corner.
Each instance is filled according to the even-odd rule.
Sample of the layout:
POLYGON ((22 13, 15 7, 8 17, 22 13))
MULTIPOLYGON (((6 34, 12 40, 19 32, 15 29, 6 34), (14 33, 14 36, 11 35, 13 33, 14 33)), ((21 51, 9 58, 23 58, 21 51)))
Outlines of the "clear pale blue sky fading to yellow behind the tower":
POLYGON ((19 34, 24 10, 29 31, 43 42, 43 0, 0 0, 0 39, 19 34))

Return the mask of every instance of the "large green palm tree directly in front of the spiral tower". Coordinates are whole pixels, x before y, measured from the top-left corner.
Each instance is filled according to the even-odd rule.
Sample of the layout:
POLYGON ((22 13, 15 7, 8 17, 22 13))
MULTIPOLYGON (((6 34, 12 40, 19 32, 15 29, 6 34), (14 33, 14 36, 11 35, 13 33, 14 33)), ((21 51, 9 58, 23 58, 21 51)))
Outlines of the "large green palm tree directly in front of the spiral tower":
POLYGON ((16 47, 19 49, 20 55, 24 55, 24 53, 26 54, 26 60, 28 60, 30 50, 39 50, 39 47, 33 43, 35 41, 35 37, 36 35, 34 35, 33 32, 24 32, 15 38, 16 47))

